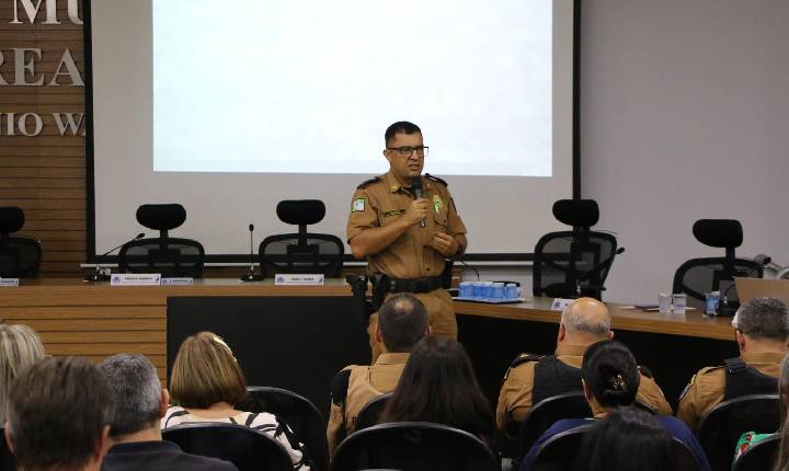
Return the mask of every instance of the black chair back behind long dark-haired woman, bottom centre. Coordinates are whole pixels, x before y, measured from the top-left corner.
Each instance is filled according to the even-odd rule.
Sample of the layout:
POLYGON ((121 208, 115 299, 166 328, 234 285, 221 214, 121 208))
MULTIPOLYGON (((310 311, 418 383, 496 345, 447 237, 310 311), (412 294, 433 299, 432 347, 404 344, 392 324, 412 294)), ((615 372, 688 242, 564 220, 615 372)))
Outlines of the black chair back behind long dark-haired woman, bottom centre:
POLYGON ((375 425, 351 434, 334 452, 332 471, 499 471, 488 445, 468 432, 427 422, 375 425))

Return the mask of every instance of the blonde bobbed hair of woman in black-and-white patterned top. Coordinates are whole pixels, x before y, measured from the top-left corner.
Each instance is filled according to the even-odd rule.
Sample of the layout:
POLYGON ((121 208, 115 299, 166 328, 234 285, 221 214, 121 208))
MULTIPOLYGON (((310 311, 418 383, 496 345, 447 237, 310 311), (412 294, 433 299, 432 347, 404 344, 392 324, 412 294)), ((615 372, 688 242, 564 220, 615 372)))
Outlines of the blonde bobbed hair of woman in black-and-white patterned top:
POLYGON ((179 348, 170 377, 175 405, 208 409, 211 404, 238 404, 247 397, 241 367, 225 341, 211 332, 186 337, 179 348))

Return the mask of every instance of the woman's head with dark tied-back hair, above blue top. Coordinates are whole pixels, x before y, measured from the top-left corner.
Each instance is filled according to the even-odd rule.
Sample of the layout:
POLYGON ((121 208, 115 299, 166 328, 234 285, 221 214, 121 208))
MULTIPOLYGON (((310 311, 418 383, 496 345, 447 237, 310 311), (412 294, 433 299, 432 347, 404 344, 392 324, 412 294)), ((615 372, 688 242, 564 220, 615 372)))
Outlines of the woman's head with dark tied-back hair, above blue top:
POLYGON ((597 342, 583 356, 581 375, 592 394, 604 407, 631 405, 641 376, 628 347, 616 341, 597 342))

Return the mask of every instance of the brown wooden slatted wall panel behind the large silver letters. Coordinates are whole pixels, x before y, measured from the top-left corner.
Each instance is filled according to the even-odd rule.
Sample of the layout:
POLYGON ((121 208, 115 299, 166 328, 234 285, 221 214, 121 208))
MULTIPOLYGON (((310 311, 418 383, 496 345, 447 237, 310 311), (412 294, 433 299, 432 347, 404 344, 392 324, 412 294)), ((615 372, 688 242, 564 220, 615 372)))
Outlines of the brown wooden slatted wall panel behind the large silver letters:
MULTIPOLYGON (((0 133, 0 206, 24 209, 26 221, 21 233, 42 241, 42 276, 76 276, 85 259, 85 139, 81 135, 60 136, 52 113, 84 113, 85 89, 72 87, 65 76, 59 79, 60 87, 13 85, 12 49, 22 47, 42 49, 35 71, 44 73, 45 83, 66 48, 87 79, 82 26, 68 20, 65 0, 57 2, 61 24, 43 24, 45 3, 35 24, 30 24, 26 15, 20 18, 23 24, 11 24, 13 2, 0 2, 0 51, 4 56, 0 76, 9 83, 0 84, 0 114, 38 113, 44 122, 36 137, 0 133)), ((80 18, 84 18, 81 0, 79 8, 80 18)), ((5 125, 3 118, 0 125, 5 125)))

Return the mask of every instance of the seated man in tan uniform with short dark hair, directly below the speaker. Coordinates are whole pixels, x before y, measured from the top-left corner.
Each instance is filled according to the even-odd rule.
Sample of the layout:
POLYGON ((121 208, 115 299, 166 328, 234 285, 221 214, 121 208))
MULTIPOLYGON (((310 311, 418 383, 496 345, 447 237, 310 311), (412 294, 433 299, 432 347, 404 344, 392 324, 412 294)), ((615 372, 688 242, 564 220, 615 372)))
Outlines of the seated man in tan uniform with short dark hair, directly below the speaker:
POLYGON ((356 429, 356 416, 369 401, 395 390, 409 352, 428 329, 427 309, 413 295, 395 295, 381 306, 375 333, 381 354, 375 364, 351 365, 332 379, 327 429, 330 452, 356 429))

